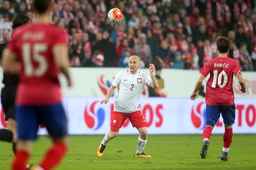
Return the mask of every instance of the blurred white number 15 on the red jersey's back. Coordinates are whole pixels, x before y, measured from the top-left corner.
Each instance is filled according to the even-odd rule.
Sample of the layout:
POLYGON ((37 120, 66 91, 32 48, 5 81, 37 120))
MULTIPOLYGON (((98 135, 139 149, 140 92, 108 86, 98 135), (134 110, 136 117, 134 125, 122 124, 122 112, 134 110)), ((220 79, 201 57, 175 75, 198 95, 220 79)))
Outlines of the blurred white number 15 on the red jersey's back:
POLYGON ((48 69, 48 64, 45 57, 40 53, 47 51, 47 45, 45 43, 36 43, 32 46, 30 43, 24 43, 21 48, 25 75, 28 77, 41 77, 44 75, 48 69), (30 53, 31 48, 32 57, 30 53), (38 68, 33 67, 32 61, 38 62, 38 68))

